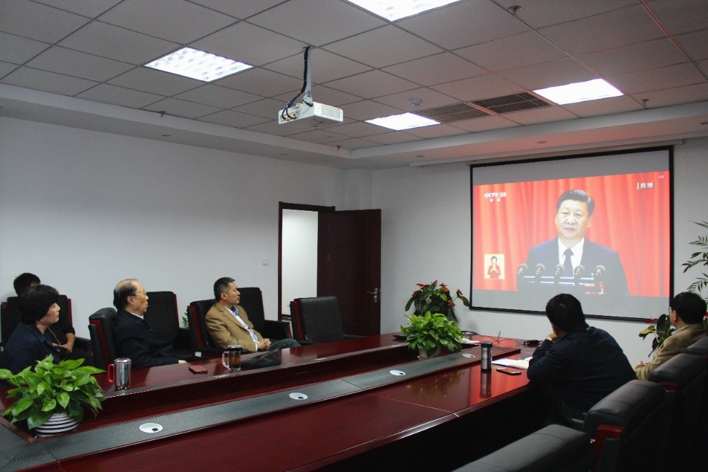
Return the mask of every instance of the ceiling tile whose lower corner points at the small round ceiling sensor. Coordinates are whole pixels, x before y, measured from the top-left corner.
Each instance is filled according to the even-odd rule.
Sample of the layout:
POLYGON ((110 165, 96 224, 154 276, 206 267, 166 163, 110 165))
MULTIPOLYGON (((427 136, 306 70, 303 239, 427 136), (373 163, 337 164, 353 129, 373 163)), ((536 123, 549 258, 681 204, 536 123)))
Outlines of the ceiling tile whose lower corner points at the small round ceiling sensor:
POLYGON ((416 84, 423 86, 442 84, 443 82, 452 82, 488 73, 481 67, 450 52, 396 64, 395 66, 385 67, 383 70, 404 79, 415 77, 416 84))

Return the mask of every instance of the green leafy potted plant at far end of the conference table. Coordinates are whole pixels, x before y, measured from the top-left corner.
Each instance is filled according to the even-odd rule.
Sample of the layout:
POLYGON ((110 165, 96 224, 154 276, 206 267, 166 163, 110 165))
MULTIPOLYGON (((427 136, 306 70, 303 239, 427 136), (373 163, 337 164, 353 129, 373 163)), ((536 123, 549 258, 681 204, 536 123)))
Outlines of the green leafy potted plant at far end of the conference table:
POLYGON ((406 335, 411 349, 417 349, 421 357, 426 358, 445 347, 455 352, 462 347, 462 331, 455 321, 442 313, 430 313, 423 316, 411 315, 408 326, 401 326, 401 333, 406 335))

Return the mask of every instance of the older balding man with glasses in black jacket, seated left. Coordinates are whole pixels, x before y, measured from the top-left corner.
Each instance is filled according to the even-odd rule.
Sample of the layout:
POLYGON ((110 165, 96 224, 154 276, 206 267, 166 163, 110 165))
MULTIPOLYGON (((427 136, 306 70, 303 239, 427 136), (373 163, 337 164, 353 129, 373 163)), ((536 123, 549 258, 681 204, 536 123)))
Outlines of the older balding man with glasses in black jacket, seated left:
POLYGON ((132 367, 154 367, 180 364, 172 351, 172 343, 157 338, 143 319, 147 311, 147 294, 137 279, 118 282, 113 289, 113 305, 118 310, 115 318, 115 344, 120 357, 132 360, 132 367))

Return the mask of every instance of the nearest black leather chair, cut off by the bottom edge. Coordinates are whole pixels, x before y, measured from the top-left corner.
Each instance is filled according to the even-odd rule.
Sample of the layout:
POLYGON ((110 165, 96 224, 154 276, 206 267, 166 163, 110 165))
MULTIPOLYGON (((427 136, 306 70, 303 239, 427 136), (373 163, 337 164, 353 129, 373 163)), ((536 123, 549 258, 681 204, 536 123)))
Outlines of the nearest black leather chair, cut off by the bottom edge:
POLYGON ((588 434, 550 425, 455 472, 588 472, 594 461, 588 434))

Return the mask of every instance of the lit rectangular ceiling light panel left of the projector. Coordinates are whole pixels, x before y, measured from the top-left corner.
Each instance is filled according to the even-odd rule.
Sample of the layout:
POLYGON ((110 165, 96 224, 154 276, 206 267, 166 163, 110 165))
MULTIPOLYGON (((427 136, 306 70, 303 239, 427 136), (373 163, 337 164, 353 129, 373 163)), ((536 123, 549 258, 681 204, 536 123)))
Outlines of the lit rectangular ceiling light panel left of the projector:
POLYGON ((171 72, 190 79, 211 82, 251 69, 253 66, 234 61, 234 59, 216 56, 209 52, 195 50, 191 47, 184 47, 172 54, 167 54, 165 57, 145 64, 145 67, 171 72))

